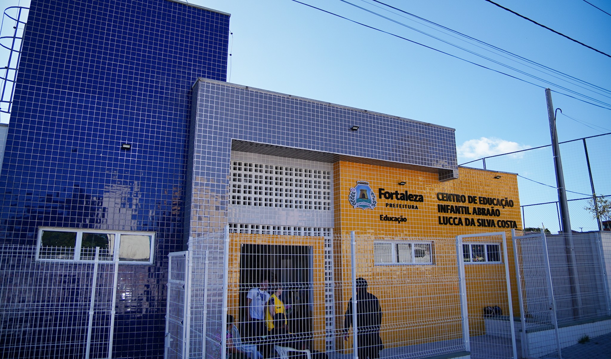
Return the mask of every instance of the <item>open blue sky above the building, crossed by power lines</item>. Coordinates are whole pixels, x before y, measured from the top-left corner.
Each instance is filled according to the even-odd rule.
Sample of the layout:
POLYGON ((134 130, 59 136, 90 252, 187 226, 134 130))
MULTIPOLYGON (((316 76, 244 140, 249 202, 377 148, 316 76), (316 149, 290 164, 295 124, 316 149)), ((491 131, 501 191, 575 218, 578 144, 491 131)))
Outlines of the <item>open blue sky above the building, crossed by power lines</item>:
MULTIPOLYGON (((348 1, 507 64, 517 65, 426 28, 412 21, 413 18, 408 15, 402 14, 407 17, 403 18, 375 7, 372 5, 375 2, 371 0, 348 1)), ((455 128, 456 145, 461 155, 459 163, 550 142, 544 87, 562 91, 557 86, 519 75, 340 0, 302 2, 519 76, 542 87, 500 75, 291 0, 193 2, 232 15, 229 79, 232 83, 455 128), (467 146, 461 150, 465 142, 467 146)), ((580 80, 611 89, 610 57, 571 42, 484 0, 382 2, 580 80)), ((610 1, 590 2, 611 13, 610 1)), ((611 54, 611 16, 582 0, 514 0, 499 3, 611 54)), ((574 85, 566 86, 566 83, 531 68, 519 68, 611 103, 609 97, 574 85)), ((562 108, 564 114, 610 129, 595 127, 595 130, 559 115, 560 141, 611 132, 609 109, 557 93, 553 93, 552 98, 554 107, 562 108)))

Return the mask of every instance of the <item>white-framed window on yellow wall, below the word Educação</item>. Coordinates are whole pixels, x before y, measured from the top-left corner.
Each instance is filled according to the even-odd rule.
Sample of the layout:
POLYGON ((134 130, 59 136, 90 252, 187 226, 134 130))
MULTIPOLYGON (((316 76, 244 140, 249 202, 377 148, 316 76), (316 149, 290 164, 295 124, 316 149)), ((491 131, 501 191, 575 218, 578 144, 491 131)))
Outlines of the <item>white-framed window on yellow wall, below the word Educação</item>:
POLYGON ((433 264, 433 242, 373 242, 374 264, 433 264))

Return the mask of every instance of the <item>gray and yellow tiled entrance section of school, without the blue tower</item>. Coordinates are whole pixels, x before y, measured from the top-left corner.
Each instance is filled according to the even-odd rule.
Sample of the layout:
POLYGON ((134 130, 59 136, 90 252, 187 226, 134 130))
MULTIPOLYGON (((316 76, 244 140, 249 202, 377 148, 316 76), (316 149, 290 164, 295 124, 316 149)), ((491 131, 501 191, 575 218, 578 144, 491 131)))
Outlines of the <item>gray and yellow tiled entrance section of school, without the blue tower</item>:
MULTIPOLYGON (((461 338, 455 237, 521 229, 515 174, 456 166, 452 128, 203 78, 193 92, 189 240, 229 226, 225 295, 239 324, 248 289, 271 277, 306 308, 294 319, 308 317, 315 350, 350 352, 337 338, 354 262, 385 311, 387 347, 461 338)), ((469 291, 485 297, 469 310, 508 313, 511 246, 497 235, 463 250, 469 291), (491 276, 494 291, 480 280, 491 276)))

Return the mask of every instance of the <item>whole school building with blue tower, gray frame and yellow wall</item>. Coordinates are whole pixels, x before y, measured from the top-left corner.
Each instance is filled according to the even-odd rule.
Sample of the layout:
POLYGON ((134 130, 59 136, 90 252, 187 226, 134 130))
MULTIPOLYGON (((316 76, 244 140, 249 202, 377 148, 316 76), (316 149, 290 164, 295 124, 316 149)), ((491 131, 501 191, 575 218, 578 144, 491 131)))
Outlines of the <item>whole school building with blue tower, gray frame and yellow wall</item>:
POLYGON ((461 352, 463 305, 473 327, 509 313, 515 174, 457 166, 452 128, 226 83, 228 37, 229 14, 180 1, 32 0, 0 178, 4 357, 161 357, 168 255, 225 228, 227 312, 273 276, 321 352, 349 352, 354 271, 388 349, 461 352))

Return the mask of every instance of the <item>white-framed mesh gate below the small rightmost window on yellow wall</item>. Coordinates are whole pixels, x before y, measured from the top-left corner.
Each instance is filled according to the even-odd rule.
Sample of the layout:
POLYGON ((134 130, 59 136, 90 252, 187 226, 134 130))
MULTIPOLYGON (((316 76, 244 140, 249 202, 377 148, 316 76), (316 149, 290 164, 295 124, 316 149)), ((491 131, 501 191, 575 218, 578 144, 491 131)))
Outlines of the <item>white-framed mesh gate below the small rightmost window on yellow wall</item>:
POLYGON ((518 358, 508 251, 505 232, 456 237, 463 338, 474 359, 518 358))

